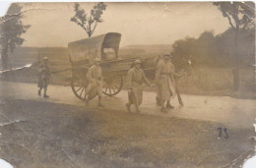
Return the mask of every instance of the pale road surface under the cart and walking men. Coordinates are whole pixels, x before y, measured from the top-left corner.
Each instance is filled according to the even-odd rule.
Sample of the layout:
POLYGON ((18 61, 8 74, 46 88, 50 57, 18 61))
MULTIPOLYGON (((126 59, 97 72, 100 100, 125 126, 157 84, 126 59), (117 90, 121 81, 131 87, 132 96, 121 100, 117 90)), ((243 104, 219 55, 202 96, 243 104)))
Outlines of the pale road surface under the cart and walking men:
MULTIPOLYGON (((14 99, 28 99, 85 106, 71 90, 70 86, 50 85, 48 87, 49 99, 38 97, 36 84, 0 82, 1 95, 14 99)), ((142 114, 164 117, 179 117, 197 119, 203 121, 220 122, 226 127, 252 128, 256 123, 256 100, 236 99, 228 96, 202 96, 181 95, 184 106, 180 107, 177 99, 172 99, 175 106, 167 114, 160 113, 156 105, 155 92, 144 92, 144 100, 141 107, 142 114)), ((102 100, 105 109, 126 112, 127 91, 122 90, 116 96, 104 96, 102 100)), ((96 108, 94 100, 90 108, 96 108)))

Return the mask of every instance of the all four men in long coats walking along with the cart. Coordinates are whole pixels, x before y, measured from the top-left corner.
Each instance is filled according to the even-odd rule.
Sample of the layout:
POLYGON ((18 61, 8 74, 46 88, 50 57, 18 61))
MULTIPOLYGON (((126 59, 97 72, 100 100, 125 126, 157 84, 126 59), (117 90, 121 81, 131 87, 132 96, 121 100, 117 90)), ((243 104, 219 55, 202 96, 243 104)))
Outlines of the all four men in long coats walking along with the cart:
MULTIPOLYGON (((89 105, 90 100, 92 100, 96 95, 98 96, 97 105, 103 107, 101 103, 102 96, 102 71, 99 65, 100 59, 96 58, 94 65, 91 66, 87 73, 87 80, 89 84, 87 85, 85 92, 85 102, 89 105)), ((175 70, 171 63, 171 55, 163 55, 157 65, 155 84, 151 84, 144 71, 141 68, 141 61, 136 60, 134 62, 134 67, 128 71, 127 75, 127 86, 128 90, 128 103, 126 104, 127 110, 131 111, 131 106, 134 105, 136 112, 140 112, 140 105, 143 101, 143 84, 148 84, 150 86, 156 85, 157 87, 157 104, 160 106, 161 112, 167 112, 166 108, 173 108, 169 104, 171 97, 175 96, 176 87, 174 81, 175 70)), ((44 88, 43 97, 49 97, 46 94, 47 85, 51 78, 51 72, 48 65, 48 58, 44 57, 42 63, 39 65, 38 69, 38 95, 41 95, 41 89, 44 88)))

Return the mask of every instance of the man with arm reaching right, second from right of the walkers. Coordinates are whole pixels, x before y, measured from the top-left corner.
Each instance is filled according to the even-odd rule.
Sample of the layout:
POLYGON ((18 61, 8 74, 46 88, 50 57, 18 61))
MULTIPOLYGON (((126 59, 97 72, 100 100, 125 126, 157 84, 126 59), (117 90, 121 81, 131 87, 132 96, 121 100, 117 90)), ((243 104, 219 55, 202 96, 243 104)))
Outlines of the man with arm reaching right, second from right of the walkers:
POLYGON ((128 71, 127 76, 129 102, 126 104, 126 107, 129 112, 131 111, 132 104, 135 105, 136 112, 140 112, 139 106, 142 104, 143 100, 143 83, 152 86, 146 78, 144 71, 141 69, 141 61, 136 60, 134 68, 128 71))

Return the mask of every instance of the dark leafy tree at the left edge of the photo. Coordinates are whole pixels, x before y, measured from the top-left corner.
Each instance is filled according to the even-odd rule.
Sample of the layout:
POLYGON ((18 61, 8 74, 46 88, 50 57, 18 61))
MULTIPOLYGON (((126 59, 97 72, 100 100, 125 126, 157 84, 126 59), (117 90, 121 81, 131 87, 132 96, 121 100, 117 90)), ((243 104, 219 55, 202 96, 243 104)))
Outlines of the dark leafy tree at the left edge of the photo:
POLYGON ((30 25, 25 26, 23 24, 23 17, 22 7, 14 3, 8 9, 7 14, 0 18, 2 69, 7 69, 8 67, 8 52, 13 52, 17 46, 23 44, 25 39, 21 36, 31 27, 30 25))

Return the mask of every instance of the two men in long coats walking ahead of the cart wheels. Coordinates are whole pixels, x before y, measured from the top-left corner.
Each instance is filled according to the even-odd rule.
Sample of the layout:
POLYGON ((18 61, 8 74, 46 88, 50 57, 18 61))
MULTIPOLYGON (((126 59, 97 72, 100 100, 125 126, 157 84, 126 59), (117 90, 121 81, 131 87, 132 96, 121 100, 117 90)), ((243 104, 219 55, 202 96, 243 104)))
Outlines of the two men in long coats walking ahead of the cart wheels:
POLYGON ((127 110, 131 111, 131 105, 134 104, 137 112, 140 112, 139 106, 143 100, 143 86, 142 84, 148 84, 157 87, 157 104, 160 106, 161 112, 167 112, 167 108, 173 108, 169 101, 171 97, 176 94, 176 87, 174 81, 175 70, 171 63, 171 55, 163 55, 159 59, 155 84, 150 84, 146 78, 144 71, 141 69, 141 61, 136 60, 135 66, 128 71, 127 84, 128 84, 128 97, 129 102, 126 104, 127 110))

